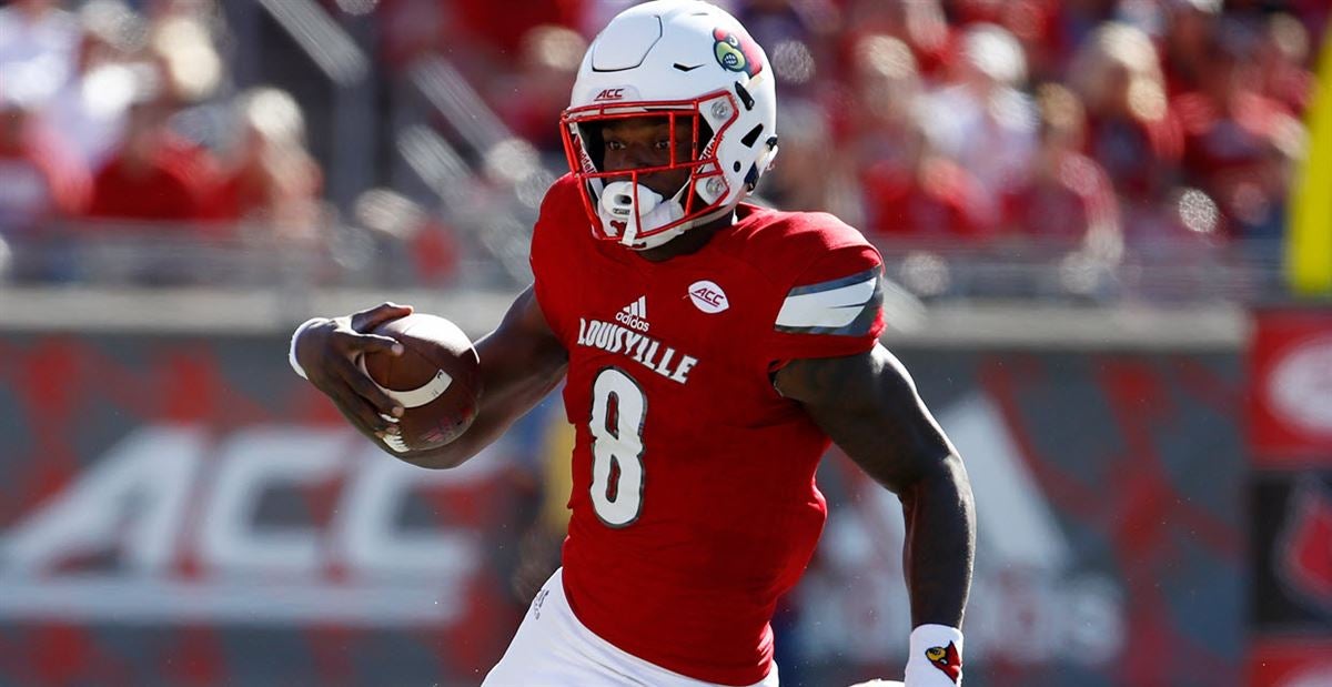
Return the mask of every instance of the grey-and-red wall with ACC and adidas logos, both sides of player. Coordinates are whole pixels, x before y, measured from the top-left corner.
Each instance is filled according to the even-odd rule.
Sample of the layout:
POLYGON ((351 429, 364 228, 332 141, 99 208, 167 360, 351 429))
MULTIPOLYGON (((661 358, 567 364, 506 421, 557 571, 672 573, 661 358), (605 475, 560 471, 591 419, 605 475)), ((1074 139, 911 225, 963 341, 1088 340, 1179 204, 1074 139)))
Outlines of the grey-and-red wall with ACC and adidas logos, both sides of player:
MULTIPOLYGON (((480 682, 545 417, 410 467, 285 345, 0 337, 0 683, 480 682)), ((970 687, 1239 684, 1232 354, 899 353, 975 483, 970 687)), ((783 682, 900 675, 900 506, 842 458, 819 485, 783 682)))

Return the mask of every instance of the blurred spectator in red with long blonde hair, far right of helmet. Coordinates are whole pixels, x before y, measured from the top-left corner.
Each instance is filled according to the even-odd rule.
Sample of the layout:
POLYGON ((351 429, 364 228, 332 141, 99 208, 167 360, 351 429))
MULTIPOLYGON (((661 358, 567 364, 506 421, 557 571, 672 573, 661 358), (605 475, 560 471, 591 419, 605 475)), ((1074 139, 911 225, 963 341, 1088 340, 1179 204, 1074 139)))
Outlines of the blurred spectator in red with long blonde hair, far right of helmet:
POLYGON ((1156 48, 1140 29, 1108 23, 1070 65, 1087 108, 1087 152, 1130 204, 1151 205, 1177 178, 1183 141, 1156 48))

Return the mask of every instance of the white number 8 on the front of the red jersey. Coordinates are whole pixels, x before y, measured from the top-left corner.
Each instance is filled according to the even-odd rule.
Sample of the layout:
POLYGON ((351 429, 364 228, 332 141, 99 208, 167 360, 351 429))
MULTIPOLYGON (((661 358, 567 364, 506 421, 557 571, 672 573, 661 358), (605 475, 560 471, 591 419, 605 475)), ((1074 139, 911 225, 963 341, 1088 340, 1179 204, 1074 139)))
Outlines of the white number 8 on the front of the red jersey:
POLYGON ((591 383, 591 503, 609 527, 633 525, 643 510, 643 419, 647 397, 618 367, 591 383))

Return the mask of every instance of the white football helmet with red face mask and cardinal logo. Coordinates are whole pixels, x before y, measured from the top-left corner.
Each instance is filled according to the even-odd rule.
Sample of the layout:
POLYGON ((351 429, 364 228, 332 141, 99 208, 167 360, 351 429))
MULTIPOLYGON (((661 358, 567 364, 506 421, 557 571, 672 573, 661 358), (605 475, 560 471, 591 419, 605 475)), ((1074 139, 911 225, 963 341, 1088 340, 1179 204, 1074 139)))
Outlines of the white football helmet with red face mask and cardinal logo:
POLYGON ((561 132, 569 168, 585 190, 593 234, 633 249, 657 248, 730 213, 771 165, 773 68, 745 27, 714 5, 655 0, 631 7, 587 48, 561 132), (693 158, 602 169, 599 126, 645 114, 669 121, 673 138, 677 117, 689 117, 693 158), (638 182, 641 174, 667 169, 690 172, 670 198, 638 182))

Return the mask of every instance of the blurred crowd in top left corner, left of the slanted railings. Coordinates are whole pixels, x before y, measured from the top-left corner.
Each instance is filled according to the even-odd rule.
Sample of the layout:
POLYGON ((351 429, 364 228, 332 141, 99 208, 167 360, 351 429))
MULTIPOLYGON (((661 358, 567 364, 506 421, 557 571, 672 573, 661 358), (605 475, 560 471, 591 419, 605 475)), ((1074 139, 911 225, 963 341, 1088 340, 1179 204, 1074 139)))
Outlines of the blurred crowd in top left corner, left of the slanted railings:
POLYGON ((57 222, 310 234, 321 170, 301 108, 237 89, 225 37, 204 0, 0 7, 0 238, 57 222))

